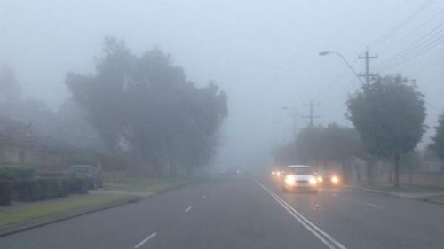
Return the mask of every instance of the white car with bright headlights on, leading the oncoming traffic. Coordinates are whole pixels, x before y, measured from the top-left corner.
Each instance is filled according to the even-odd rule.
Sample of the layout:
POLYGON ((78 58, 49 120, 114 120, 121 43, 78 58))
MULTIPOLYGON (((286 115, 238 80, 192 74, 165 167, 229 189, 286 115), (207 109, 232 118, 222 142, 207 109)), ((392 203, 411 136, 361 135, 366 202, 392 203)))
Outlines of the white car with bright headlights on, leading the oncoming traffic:
POLYGON ((311 191, 318 192, 318 181, 312 167, 306 165, 289 165, 286 170, 282 191, 311 191))

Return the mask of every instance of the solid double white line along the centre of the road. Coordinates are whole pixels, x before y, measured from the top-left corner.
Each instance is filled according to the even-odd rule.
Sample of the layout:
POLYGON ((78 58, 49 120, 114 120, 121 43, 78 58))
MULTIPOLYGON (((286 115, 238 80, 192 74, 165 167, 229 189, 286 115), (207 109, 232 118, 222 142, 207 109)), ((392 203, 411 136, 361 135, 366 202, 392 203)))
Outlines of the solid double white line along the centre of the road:
POLYGON ((268 190, 268 188, 266 188, 264 184, 259 183, 256 179, 255 182, 258 183, 258 185, 270 196, 272 196, 279 204, 281 204, 281 206, 285 208, 289 212, 289 214, 291 214, 291 216, 293 216, 297 220, 297 222, 301 223, 305 227, 305 229, 311 231, 313 235, 315 237, 318 237, 324 245, 327 245, 329 249, 346 249, 346 247, 337 242, 336 239, 329 236, 329 234, 318 228, 312 222, 308 221, 302 214, 299 214, 299 212, 297 212, 296 209, 293 208, 293 206, 290 206, 281 197, 274 193, 274 191, 268 190))

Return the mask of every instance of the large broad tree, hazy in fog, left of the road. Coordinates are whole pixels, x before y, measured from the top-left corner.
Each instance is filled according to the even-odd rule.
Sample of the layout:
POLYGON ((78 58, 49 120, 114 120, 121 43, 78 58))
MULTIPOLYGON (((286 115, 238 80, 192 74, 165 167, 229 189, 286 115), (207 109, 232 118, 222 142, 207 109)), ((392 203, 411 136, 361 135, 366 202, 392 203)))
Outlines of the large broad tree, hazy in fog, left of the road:
POLYGON ((104 47, 95 74, 69 73, 66 82, 107 152, 129 152, 150 174, 207 164, 227 115, 226 93, 188 82, 159 49, 138 57, 114 37, 104 47))

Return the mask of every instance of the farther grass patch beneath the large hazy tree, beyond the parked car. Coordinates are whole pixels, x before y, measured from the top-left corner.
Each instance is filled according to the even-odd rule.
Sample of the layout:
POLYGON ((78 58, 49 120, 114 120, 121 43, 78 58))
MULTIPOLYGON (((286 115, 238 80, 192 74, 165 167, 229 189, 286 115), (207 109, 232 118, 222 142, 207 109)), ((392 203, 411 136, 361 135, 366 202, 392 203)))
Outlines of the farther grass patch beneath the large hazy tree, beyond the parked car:
POLYGON ((126 178, 122 183, 108 183, 106 190, 127 192, 159 192, 187 183, 199 183, 206 178, 203 176, 174 177, 174 178, 126 178))

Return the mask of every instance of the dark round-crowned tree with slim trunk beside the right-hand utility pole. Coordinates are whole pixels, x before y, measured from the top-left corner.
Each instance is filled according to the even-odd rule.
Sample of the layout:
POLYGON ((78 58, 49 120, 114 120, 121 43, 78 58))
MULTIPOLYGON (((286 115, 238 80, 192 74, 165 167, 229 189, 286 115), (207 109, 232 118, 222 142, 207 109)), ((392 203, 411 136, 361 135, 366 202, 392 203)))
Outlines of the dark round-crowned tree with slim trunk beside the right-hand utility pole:
POLYGON ((364 150, 394 161, 398 187, 400 155, 411 152, 424 134, 424 95, 407 78, 389 75, 362 85, 347 105, 364 150))

